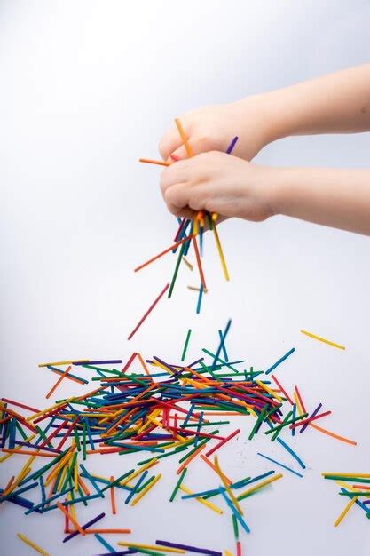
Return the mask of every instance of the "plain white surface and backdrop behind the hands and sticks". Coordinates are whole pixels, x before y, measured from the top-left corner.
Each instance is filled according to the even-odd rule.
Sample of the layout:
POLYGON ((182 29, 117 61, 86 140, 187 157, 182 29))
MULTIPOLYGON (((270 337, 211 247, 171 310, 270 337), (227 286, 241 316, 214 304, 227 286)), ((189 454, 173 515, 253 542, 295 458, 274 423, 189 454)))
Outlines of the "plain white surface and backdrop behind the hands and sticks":
MULTIPOLYGON (((370 522, 358 508, 333 527, 345 501, 319 474, 370 472, 369 240, 287 218, 228 222, 220 233, 232 282, 224 283, 207 238, 210 292, 201 315, 185 288, 197 281, 184 267, 173 299, 128 343, 174 264, 168 257, 132 272, 169 244, 175 228, 157 187, 160 170, 137 160, 157 155, 162 131, 185 109, 367 61, 369 16, 359 0, 0 3, 2 393, 43 406, 55 376, 38 369, 40 361, 125 358, 133 350, 175 361, 189 327, 195 358, 201 346, 216 347, 216 330, 229 316, 229 353, 256 368, 295 346, 279 370, 283 384, 300 385, 311 408, 323 401, 333 410, 328 428, 358 446, 313 430, 295 437, 290 443, 307 473, 303 480, 285 473, 245 504, 252 528, 242 536, 246 556, 370 551, 370 522), (347 350, 304 338, 301 328, 347 350)), ((258 160, 358 167, 368 165, 369 147, 368 134, 295 138, 258 160)), ((59 397, 67 393, 75 388, 60 387, 59 397)), ((279 445, 245 441, 251 423, 241 425, 239 441, 220 451, 227 473, 270 469, 257 449, 294 465, 279 445)), ((119 514, 105 524, 131 527, 137 542, 167 538, 234 552, 226 515, 190 502, 169 505, 175 462, 164 461, 162 484, 135 509, 118 496, 119 514)), ((89 460, 97 471, 103 464, 117 474, 129 466, 119 457, 89 460)), ((0 467, 2 484, 20 465, 14 459, 0 467)), ((195 462, 186 484, 215 483, 195 462)), ((79 515, 85 521, 103 509, 107 503, 91 504, 79 515)), ((61 544, 60 522, 55 512, 26 519, 4 505, 0 552, 32 552, 18 530, 53 556, 105 552, 94 538, 61 544)))

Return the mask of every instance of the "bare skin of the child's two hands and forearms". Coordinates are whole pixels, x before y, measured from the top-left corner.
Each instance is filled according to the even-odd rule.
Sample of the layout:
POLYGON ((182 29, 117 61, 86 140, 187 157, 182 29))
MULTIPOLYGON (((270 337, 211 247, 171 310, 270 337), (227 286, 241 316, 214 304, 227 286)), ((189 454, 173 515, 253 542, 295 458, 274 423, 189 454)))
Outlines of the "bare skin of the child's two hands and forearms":
POLYGON ((285 89, 180 116, 193 158, 176 127, 161 139, 171 163, 161 173, 170 212, 199 210, 255 222, 276 214, 370 235, 370 170, 273 168, 249 161, 293 135, 370 131, 370 64, 285 89), (230 140, 239 136, 232 155, 230 140), (172 156, 174 158, 172 158, 172 156))

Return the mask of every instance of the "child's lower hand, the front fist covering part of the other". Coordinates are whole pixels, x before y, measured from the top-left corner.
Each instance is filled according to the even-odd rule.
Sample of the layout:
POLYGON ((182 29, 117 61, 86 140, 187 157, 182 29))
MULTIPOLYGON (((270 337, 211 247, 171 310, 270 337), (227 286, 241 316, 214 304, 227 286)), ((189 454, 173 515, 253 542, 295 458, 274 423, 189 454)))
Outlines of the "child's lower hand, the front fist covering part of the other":
POLYGON ((161 192, 169 211, 192 218, 199 210, 255 222, 275 213, 271 168, 219 152, 203 153, 161 172, 161 192))

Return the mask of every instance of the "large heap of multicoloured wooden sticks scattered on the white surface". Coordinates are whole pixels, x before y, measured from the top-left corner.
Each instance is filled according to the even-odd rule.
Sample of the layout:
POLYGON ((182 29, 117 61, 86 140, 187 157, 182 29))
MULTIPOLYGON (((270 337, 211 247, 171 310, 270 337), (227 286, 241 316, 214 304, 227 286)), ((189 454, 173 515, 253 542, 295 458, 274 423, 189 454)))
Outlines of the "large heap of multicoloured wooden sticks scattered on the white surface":
MULTIPOLYGON (((135 506, 161 481, 161 473, 155 473, 155 469, 161 467, 161 459, 178 458, 170 502, 177 498, 186 504, 201 504, 220 515, 226 510, 232 521, 236 552, 240 554, 239 530, 241 528, 244 533, 250 530, 240 503, 279 480, 282 474, 276 473, 276 469, 283 468, 296 477, 303 477, 303 473, 285 462, 291 458, 300 472, 305 470, 302 459, 289 446, 287 439, 281 438, 282 433, 293 436, 297 431, 303 433, 313 427, 339 441, 356 442, 318 426, 318 420, 327 417, 330 411, 321 411, 321 404, 308 411, 296 386, 289 396, 287 389, 271 375, 273 369, 295 352, 294 348, 265 371, 246 368, 243 360, 229 361, 225 338, 230 324, 227 323, 224 331, 218 330, 216 353, 204 348, 200 358, 186 365, 163 361, 157 356, 145 361, 140 353, 132 353, 125 362, 80 360, 41 364, 41 369, 49 369, 59 376, 51 391, 46 393, 47 398, 62 380, 68 379, 79 385, 91 382, 94 387, 83 395, 55 401, 46 409, 2 398, 0 446, 4 455, 0 461, 17 455, 26 455, 28 460, 0 490, 0 503, 18 504, 25 509, 26 515, 52 510, 59 512, 64 523, 64 543, 76 536, 92 534, 108 553, 169 552, 169 547, 175 547, 177 552, 191 550, 218 556, 219 552, 209 549, 164 541, 157 541, 161 547, 156 549, 120 541, 118 545, 125 546, 126 550, 116 552, 102 535, 130 534, 130 528, 96 528, 105 512, 83 525, 76 516, 76 508, 106 495, 113 514, 116 513, 117 496, 123 496, 125 504, 135 506), (73 373, 71 369, 74 369, 73 373), (89 379, 85 378, 86 374, 89 379), (224 432, 225 427, 231 425, 229 417, 245 418, 242 430, 236 428, 224 432), (254 477, 230 479, 221 468, 218 454, 238 435, 252 441, 256 434, 277 441, 284 450, 283 461, 258 452, 258 457, 263 458, 261 463, 268 461, 271 470, 254 477), (98 476, 88 470, 85 465, 88 456, 108 454, 136 454, 137 467, 128 469, 119 477, 98 476), (202 492, 193 492, 188 486, 192 474, 188 471, 197 458, 208 466, 215 480, 213 488, 202 492), (178 492, 181 492, 181 498, 178 492)), ((188 332, 181 356, 183 361, 189 338, 188 332)), ((326 474, 328 479, 337 479, 337 475, 326 474)), ((358 491, 358 483, 369 482, 370 474, 340 479, 353 483, 350 488, 343 487, 341 495, 350 497, 350 504, 357 504, 369 517, 367 504, 370 500, 359 500, 369 491, 366 486, 358 491)), ((29 541, 31 546, 35 544, 21 534, 20 538, 29 541)))

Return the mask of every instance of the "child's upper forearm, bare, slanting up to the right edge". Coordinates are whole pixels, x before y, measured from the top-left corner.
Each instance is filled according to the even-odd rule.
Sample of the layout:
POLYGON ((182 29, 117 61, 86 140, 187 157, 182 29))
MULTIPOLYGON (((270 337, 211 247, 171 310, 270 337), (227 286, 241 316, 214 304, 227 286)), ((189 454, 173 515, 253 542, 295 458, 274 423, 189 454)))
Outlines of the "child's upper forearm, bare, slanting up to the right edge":
POLYGON ((266 143, 291 135, 370 131, 370 64, 243 99, 247 114, 251 102, 264 115, 266 143))

